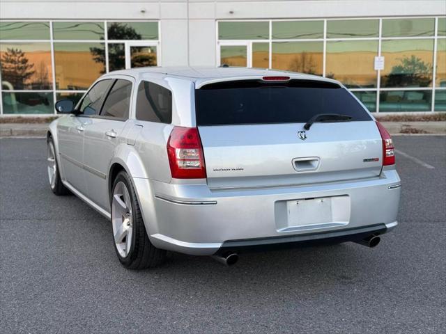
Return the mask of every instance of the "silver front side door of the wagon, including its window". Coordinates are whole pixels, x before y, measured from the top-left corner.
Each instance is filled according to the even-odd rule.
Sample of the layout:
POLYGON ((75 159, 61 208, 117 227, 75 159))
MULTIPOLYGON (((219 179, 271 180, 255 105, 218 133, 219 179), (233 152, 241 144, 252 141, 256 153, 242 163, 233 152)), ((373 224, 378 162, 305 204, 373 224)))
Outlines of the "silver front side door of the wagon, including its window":
POLYGON ((72 187, 84 194, 86 192, 83 169, 84 129, 89 123, 89 118, 84 116, 100 110, 110 84, 112 84, 110 79, 96 82, 79 102, 77 106, 79 114, 63 118, 58 126, 59 155, 63 177, 72 187))

